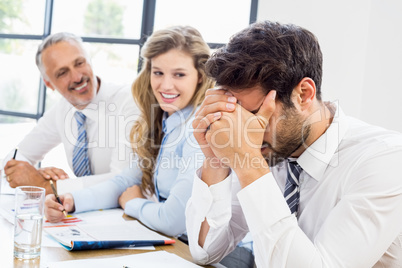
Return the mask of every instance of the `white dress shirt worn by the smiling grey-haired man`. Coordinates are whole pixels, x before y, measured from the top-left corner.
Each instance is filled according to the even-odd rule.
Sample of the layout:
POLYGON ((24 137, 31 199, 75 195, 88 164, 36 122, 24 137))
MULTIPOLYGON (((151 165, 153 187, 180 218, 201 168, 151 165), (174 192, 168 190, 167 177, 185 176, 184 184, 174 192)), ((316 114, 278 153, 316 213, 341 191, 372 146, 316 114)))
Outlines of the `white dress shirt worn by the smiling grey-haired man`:
MULTIPOLYGON (((76 111, 65 98, 53 105, 18 144, 16 159, 35 165, 51 149, 63 143, 68 164, 73 170, 73 149, 78 132, 74 118, 76 111)), ((80 111, 86 116, 88 156, 93 175, 58 180, 60 194, 113 178, 129 165, 132 153, 129 134, 139 109, 132 98, 130 85, 101 81, 95 98, 80 111)), ((4 164, 11 158, 11 153, 3 161, 4 164)))

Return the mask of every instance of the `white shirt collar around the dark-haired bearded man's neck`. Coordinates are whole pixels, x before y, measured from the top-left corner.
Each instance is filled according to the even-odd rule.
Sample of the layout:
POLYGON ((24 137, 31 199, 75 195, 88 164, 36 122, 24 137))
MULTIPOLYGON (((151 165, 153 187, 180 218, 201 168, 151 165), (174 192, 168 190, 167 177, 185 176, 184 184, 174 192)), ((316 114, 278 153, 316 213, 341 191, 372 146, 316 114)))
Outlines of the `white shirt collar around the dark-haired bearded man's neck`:
POLYGON ((325 105, 334 111, 331 125, 297 160, 303 170, 317 181, 328 165, 338 165, 337 149, 349 127, 346 115, 337 102, 326 102, 325 105))

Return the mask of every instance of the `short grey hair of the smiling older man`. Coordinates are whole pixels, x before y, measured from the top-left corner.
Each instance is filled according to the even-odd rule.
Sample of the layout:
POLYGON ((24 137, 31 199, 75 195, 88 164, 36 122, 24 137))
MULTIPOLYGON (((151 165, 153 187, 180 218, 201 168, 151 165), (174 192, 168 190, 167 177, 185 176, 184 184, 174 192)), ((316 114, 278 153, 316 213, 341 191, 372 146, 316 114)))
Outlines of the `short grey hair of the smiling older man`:
POLYGON ((46 37, 43 40, 43 42, 39 45, 38 51, 36 52, 36 66, 38 66, 38 69, 43 76, 46 76, 46 72, 45 72, 45 69, 43 66, 43 62, 42 62, 43 50, 45 50, 46 48, 48 48, 54 44, 57 44, 57 43, 63 42, 63 41, 77 42, 83 48, 83 42, 82 42, 81 37, 78 37, 72 33, 61 32, 61 33, 55 33, 55 34, 52 34, 52 35, 49 35, 48 37, 46 37))

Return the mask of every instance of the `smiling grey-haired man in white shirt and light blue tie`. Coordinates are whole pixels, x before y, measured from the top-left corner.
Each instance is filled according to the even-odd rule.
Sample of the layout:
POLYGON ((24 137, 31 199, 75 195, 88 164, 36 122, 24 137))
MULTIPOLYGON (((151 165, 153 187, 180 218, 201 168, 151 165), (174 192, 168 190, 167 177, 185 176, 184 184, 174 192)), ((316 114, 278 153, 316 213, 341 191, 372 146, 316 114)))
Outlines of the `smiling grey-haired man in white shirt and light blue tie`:
POLYGON ((93 73, 81 38, 71 33, 48 36, 39 45, 36 64, 48 88, 63 98, 38 121, 18 144, 16 159, 5 158, 9 185, 44 187, 57 180, 59 193, 81 189, 112 178, 129 165, 129 133, 138 115, 131 85, 102 80, 93 73), (56 167, 35 165, 63 143, 67 161, 77 178, 56 167))

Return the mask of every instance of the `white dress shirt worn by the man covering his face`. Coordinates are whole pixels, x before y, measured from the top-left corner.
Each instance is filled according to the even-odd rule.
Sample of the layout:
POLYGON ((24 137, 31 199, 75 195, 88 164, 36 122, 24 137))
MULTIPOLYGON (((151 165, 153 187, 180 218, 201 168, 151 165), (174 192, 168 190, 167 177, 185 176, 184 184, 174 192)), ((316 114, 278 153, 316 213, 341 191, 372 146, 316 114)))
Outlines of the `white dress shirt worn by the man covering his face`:
POLYGON ((198 171, 186 208, 190 251, 220 261, 250 231, 258 267, 402 267, 402 135, 346 117, 297 160, 298 218, 283 197, 279 164, 244 189, 232 172, 207 186, 198 171), (198 245, 204 219, 210 225, 198 245))

